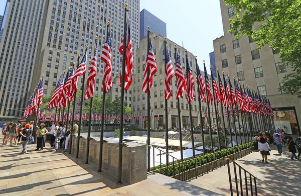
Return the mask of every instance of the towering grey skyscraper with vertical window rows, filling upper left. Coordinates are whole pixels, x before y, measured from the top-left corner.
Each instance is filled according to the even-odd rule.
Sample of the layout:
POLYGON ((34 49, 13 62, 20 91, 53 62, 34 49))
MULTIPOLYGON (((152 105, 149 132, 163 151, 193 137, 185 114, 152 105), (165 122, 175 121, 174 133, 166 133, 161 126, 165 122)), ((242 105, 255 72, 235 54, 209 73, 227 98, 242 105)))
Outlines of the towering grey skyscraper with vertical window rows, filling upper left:
MULTIPOLYGON (((9 1, 8 1, 9 2, 9 1)), ((133 53, 138 45, 139 1, 127 0, 133 53)), ((121 0, 21 0, 13 1, 8 9, 8 20, 0 44, 2 78, 0 91, 1 115, 19 116, 24 110, 40 78, 44 74, 44 94, 49 95, 60 75, 78 54, 83 56, 88 46, 87 73, 98 36, 95 93, 102 96, 104 64, 100 61, 106 38, 106 22, 110 22, 112 37, 112 76, 121 71, 119 46, 123 35, 124 2, 121 0)), ((81 86, 79 81, 79 88, 81 86)), ((85 84, 86 86, 86 81, 85 84)), ((108 95, 120 96, 119 82, 113 83, 108 95), (114 93, 112 91, 114 90, 114 93), (116 91, 116 92, 115 92, 116 91)), ((130 103, 130 91, 127 102, 130 103)))

